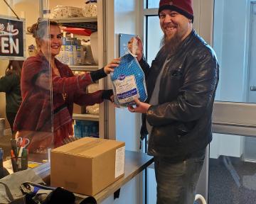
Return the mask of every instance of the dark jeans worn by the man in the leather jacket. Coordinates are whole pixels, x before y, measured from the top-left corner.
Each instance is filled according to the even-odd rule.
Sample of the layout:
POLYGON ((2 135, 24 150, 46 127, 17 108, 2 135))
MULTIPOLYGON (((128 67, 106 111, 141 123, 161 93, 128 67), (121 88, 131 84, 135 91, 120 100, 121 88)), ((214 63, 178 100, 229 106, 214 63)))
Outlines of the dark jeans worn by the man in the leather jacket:
POLYGON ((190 157, 182 162, 154 157, 157 183, 157 204, 193 204, 196 184, 203 167, 206 152, 190 157))

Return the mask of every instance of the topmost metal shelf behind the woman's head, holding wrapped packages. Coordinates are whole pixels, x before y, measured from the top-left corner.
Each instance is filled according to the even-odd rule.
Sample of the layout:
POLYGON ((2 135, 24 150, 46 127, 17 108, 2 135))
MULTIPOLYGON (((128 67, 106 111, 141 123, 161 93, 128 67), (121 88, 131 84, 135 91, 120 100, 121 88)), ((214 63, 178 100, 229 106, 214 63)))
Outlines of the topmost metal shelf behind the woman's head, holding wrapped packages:
POLYGON ((60 23, 60 26, 87 28, 92 32, 97 31, 97 17, 53 18, 53 21, 60 23))

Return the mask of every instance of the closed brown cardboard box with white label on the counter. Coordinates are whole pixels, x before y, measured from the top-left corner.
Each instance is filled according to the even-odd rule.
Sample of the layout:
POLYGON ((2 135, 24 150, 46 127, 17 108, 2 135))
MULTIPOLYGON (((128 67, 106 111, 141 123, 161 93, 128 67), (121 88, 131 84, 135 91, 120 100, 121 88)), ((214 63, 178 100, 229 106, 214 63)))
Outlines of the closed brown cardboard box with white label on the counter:
POLYGON ((124 142, 84 137, 53 149, 50 185, 94 196, 124 176, 124 142))

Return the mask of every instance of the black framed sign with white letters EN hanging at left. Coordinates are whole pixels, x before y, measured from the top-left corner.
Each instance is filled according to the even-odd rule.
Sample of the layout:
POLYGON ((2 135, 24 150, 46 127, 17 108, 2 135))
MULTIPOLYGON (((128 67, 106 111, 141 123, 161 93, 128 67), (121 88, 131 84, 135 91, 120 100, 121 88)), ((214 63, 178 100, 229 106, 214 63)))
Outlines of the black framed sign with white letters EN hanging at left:
POLYGON ((0 59, 25 60, 25 19, 0 15, 0 59))

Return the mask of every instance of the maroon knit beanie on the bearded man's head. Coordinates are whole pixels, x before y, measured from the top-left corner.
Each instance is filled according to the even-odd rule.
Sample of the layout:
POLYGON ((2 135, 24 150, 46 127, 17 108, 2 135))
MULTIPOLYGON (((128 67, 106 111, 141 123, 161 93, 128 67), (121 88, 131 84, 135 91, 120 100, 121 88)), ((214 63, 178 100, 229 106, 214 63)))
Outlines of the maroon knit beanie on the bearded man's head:
POLYGON ((188 19, 191 19, 193 22, 192 0, 160 0, 159 13, 164 9, 177 11, 188 19))

